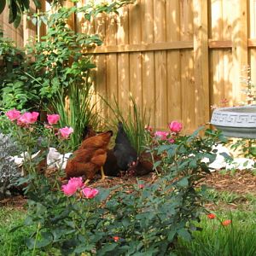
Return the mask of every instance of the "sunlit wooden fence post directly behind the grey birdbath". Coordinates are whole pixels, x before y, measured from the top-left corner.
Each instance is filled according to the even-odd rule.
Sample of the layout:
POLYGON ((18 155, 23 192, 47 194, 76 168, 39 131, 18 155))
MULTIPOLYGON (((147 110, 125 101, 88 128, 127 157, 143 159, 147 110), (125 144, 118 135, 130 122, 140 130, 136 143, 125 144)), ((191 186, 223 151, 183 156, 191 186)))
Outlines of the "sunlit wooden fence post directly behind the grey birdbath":
MULTIPOLYGON (((241 70, 247 67, 247 1, 234 1, 235 17, 232 25, 232 61, 233 61, 233 83, 232 94, 235 104, 243 99, 241 94, 241 70)), ((243 74, 247 76, 247 73, 243 74)))

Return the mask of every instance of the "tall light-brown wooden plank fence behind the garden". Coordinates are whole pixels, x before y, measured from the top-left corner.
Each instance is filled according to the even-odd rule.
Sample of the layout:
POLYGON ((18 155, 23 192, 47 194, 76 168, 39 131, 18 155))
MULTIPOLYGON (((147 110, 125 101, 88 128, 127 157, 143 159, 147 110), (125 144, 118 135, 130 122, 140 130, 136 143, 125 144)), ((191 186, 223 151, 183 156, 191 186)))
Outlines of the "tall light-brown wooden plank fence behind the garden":
POLYGON ((119 16, 70 23, 104 40, 91 51, 96 92, 122 108, 131 93, 160 129, 177 119, 192 131, 210 120, 212 105, 241 102, 247 65, 256 82, 255 0, 137 0, 119 16))

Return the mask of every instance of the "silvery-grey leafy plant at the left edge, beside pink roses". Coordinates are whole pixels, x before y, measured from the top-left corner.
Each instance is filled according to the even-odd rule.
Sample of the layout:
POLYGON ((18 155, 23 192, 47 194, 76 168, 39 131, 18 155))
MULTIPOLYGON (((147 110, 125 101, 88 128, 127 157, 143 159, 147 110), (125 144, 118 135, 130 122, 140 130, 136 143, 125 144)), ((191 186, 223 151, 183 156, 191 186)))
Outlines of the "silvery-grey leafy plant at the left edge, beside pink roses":
POLYGON ((20 177, 20 171, 11 160, 15 153, 16 146, 9 136, 0 133, 0 199, 9 194, 9 189, 15 186, 20 177))

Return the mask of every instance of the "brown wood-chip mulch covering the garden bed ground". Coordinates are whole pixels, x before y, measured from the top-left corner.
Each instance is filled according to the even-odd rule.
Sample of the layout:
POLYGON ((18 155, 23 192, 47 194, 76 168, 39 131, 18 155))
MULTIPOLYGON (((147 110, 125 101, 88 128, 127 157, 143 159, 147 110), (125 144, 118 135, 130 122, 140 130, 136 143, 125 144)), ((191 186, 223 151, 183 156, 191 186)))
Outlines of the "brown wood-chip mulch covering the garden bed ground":
MULTIPOLYGON (((99 176, 100 177, 100 176, 99 176)), ((135 183, 154 183, 156 176, 149 173, 143 177, 108 177, 104 181, 96 179, 90 183, 90 187, 112 188, 116 185, 128 188, 135 183)), ((234 175, 212 172, 202 181, 207 187, 218 191, 229 191, 239 195, 247 193, 256 195, 256 176, 249 171, 237 171, 234 175)), ((26 204, 26 199, 22 196, 15 196, 0 201, 0 207, 22 208, 26 204)))

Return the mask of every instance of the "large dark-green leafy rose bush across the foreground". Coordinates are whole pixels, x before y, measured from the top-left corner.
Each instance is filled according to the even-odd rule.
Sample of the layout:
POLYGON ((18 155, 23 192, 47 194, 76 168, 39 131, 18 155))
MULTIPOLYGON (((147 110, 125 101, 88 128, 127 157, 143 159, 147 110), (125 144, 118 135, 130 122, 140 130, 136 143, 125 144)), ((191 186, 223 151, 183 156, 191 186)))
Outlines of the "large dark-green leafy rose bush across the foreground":
POLYGON ((199 221, 203 199, 195 186, 209 172, 201 160, 214 160, 212 145, 221 138, 210 130, 201 138, 196 131, 177 137, 176 143, 157 145, 157 165, 164 174, 155 183, 99 188, 93 198, 84 197, 84 188, 66 196, 60 184, 37 176, 40 185, 27 194, 25 224, 38 226, 38 232, 26 240, 27 246, 45 252, 53 247, 62 255, 169 255, 177 236, 189 241, 196 230, 192 221, 199 221))

